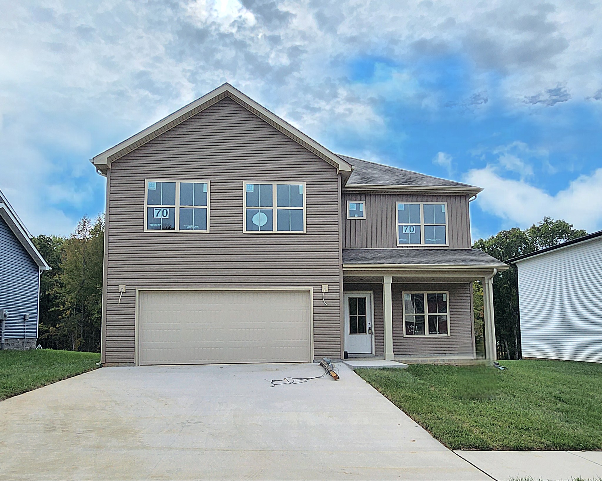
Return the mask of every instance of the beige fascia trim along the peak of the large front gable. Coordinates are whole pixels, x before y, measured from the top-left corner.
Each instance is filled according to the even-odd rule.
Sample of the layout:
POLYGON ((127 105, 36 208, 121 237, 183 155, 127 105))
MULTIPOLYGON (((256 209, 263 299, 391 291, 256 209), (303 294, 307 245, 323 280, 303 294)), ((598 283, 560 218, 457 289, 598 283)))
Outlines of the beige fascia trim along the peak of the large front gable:
MULTIPOLYGON (((255 100, 250 99, 250 97, 247 97, 240 90, 237 90, 236 88, 232 87, 232 85, 227 84, 227 83, 221 85, 220 87, 216 88, 215 90, 212 90, 208 94, 203 95, 202 97, 200 97, 200 99, 194 100, 194 102, 191 102, 188 105, 182 107, 181 109, 173 112, 173 114, 170 114, 167 117, 163 118, 162 120, 152 124, 150 127, 147 127, 146 129, 141 130, 141 132, 138 132, 137 134, 131 136, 130 138, 124 140, 123 142, 120 142, 116 146, 111 147, 111 149, 105 150, 105 152, 102 152, 99 155, 96 155, 94 158, 92 158, 91 162, 97 167, 104 167, 105 169, 109 168, 110 162, 108 161, 108 158, 110 158, 110 156, 116 154, 117 152, 119 152, 122 149, 125 149, 128 146, 131 146, 131 144, 134 144, 135 142, 140 141, 147 135, 155 132, 155 130, 161 129, 161 127, 164 127, 167 124, 169 124, 170 122, 173 122, 177 118, 181 117, 182 115, 187 114, 187 112, 190 112, 191 110, 197 108, 199 105, 202 105, 205 102, 209 102, 210 100, 214 99, 215 97, 217 97, 223 93, 226 93, 226 92, 229 93, 230 95, 236 97, 238 100, 241 100, 241 102, 247 103, 248 105, 252 106, 252 108, 256 109, 260 114, 264 115, 265 117, 267 117, 268 119, 273 121, 275 124, 277 124, 283 130, 290 132, 293 136, 299 137, 299 139, 301 139, 303 142, 306 142, 306 144, 313 147, 315 150, 320 152, 326 158, 330 159, 330 161, 332 161, 334 163, 334 165, 337 166, 338 171, 349 172, 349 173, 352 171, 351 164, 344 161, 343 159, 341 159, 339 156, 335 155, 334 153, 330 152, 330 150, 326 149, 326 147, 321 146, 320 144, 318 144, 318 142, 314 141, 314 139, 309 138, 307 135, 305 135, 305 133, 296 129, 291 124, 289 124, 287 121, 282 120, 282 118, 278 117, 278 115, 273 114, 272 112, 268 111, 268 109, 259 105, 259 103, 255 102, 255 100)), ((102 171, 102 169, 101 169, 101 171, 102 171)))

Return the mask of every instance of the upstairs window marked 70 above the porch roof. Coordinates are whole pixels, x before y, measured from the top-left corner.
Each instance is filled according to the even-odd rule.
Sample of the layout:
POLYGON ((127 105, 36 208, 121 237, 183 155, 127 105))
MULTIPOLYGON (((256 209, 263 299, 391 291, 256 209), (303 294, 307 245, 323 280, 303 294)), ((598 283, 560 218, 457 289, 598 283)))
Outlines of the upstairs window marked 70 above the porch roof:
POLYGON ((447 203, 398 202, 397 245, 448 245, 447 203))

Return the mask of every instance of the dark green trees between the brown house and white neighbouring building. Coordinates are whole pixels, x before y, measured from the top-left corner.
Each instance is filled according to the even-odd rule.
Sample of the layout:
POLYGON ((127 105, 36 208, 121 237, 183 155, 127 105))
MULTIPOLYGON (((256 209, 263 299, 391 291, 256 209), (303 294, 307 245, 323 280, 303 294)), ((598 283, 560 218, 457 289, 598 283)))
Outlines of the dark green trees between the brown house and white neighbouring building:
MULTIPOLYGON (((586 231, 574 229, 573 224, 550 217, 544 217, 541 222, 521 230, 518 227, 502 230, 488 239, 479 239, 473 248, 485 251, 489 255, 506 261, 512 257, 529 254, 533 251, 552 247, 553 245, 585 236, 586 231)), ((474 305, 482 305, 482 288, 480 299, 477 299, 478 289, 474 290, 474 305)), ((518 277, 517 269, 512 266, 507 271, 500 272, 494 277, 494 313, 495 337, 497 340, 498 357, 507 359, 520 358, 520 318, 518 313, 518 277)), ((475 322, 477 318, 475 317, 475 322)))

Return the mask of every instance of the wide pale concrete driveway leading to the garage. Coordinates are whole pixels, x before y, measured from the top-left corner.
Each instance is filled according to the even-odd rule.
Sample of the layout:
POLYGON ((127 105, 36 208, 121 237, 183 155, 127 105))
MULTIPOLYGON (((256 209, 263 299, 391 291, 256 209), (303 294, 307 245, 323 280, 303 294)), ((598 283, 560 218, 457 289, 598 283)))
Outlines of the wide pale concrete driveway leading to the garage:
POLYGON ((489 479, 338 364, 104 367, 0 402, 0 479, 489 479))

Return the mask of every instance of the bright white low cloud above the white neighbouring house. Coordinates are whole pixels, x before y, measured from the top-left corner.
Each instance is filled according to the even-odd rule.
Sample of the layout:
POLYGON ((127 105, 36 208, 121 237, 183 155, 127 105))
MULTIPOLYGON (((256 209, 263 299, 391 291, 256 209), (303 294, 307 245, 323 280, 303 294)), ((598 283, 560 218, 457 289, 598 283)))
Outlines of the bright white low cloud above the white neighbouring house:
POLYGON ((476 200, 479 207, 510 225, 526 228, 550 216, 588 232, 602 228, 602 168, 554 195, 524 180, 504 179, 491 166, 469 171, 465 180, 485 188, 476 200))

